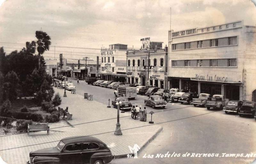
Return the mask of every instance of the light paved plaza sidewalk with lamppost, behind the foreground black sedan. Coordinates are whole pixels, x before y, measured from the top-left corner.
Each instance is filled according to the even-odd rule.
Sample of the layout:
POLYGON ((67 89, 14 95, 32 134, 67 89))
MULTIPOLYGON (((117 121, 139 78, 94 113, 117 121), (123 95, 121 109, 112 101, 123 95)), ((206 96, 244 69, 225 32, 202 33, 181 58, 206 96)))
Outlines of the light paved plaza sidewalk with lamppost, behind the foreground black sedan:
MULTIPOLYGON (((56 146, 61 138, 71 136, 92 135, 101 139, 107 145, 111 145, 111 152, 118 157, 127 157, 131 153, 129 146, 137 144, 142 148, 149 140, 162 130, 159 125, 151 125, 147 122, 133 120, 130 112, 120 113, 120 124, 123 135, 116 136, 116 108, 107 108, 106 105, 84 99, 83 96, 71 94, 66 91, 67 97, 62 97, 64 89, 54 87, 55 93, 60 93, 62 103, 61 108, 68 106, 68 111, 73 115, 72 120, 67 122, 70 127, 61 127, 46 131, 27 134, 0 137, 0 149, 10 149, 0 151, 1 157, 7 163, 25 163, 29 160, 29 152, 38 149, 56 146), (151 125, 151 126, 145 126, 151 125), (144 126, 144 127, 143 127, 144 126), (31 146, 27 146, 31 145, 31 146), (19 148, 16 148, 19 147, 19 148)), ((148 116, 149 118, 149 116, 148 116)))

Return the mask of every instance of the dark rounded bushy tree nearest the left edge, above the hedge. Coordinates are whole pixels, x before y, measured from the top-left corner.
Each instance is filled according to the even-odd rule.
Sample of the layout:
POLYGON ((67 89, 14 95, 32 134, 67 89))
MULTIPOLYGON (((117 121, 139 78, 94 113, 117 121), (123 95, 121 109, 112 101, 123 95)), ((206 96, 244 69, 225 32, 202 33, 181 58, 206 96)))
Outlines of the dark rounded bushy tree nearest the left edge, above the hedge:
POLYGON ((4 78, 3 98, 10 101, 17 99, 19 94, 19 78, 14 71, 9 71, 4 78))

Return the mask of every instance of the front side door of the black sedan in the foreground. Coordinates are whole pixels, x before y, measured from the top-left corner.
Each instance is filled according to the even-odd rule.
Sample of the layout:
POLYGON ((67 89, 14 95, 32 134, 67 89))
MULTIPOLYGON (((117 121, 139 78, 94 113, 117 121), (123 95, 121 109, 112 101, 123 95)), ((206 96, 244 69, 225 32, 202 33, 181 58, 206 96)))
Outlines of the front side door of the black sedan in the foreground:
POLYGON ((82 162, 82 143, 68 144, 61 153, 61 163, 78 164, 82 162))

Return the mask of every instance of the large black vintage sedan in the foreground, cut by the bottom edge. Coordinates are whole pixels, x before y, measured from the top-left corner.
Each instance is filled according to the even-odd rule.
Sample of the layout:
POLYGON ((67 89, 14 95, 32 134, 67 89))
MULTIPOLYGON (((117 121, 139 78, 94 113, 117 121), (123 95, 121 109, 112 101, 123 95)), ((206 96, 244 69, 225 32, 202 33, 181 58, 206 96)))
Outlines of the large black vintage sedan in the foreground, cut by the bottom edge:
POLYGON ((76 136, 61 139, 56 147, 30 152, 29 158, 30 163, 103 164, 115 156, 100 139, 76 136))

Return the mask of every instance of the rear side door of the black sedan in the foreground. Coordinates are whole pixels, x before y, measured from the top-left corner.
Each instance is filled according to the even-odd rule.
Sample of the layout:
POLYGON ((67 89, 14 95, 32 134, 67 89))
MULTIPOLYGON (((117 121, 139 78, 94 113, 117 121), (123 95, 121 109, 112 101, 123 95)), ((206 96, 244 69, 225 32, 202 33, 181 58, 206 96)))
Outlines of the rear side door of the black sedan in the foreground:
POLYGON ((92 154, 99 152, 100 146, 93 142, 83 143, 82 159, 84 163, 90 163, 92 154))

